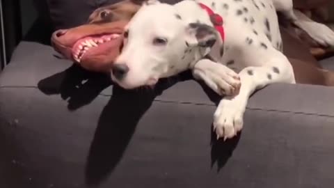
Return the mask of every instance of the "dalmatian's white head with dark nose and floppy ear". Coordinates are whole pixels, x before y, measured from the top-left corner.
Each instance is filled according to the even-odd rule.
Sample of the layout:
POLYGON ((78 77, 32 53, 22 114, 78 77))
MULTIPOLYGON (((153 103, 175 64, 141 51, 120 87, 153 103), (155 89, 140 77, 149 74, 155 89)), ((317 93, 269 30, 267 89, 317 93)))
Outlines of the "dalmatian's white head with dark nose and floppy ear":
POLYGON ((154 86, 160 78, 188 69, 217 38, 212 26, 186 22, 175 6, 146 1, 125 27, 124 46, 111 78, 127 89, 154 86))

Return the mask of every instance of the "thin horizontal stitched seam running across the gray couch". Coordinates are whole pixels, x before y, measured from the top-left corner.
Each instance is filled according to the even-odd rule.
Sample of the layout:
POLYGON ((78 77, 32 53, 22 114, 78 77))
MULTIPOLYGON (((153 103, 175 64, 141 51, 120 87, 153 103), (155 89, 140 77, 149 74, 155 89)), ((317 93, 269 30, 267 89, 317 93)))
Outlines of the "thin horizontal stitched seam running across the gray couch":
MULTIPOLYGON (((36 88, 37 86, 0 86, 1 88, 36 88)), ((103 97, 111 97, 111 95, 106 94, 99 94, 103 97)), ((154 102, 160 102, 160 103, 166 103, 166 104, 191 104, 196 106, 206 106, 206 107, 216 107, 214 104, 207 104, 207 103, 201 103, 201 102, 181 102, 181 101, 173 101, 173 100, 159 100, 154 99, 154 102)), ((334 118, 334 115, 328 115, 328 114, 321 114, 321 113, 307 113, 303 111, 284 111, 284 110, 278 110, 278 109, 260 109, 260 108, 252 108, 252 107, 246 107, 246 109, 250 111, 265 111, 265 112, 278 112, 278 113, 293 113, 293 114, 299 114, 299 115, 305 115, 305 116, 319 116, 319 117, 327 117, 327 118, 334 118)))

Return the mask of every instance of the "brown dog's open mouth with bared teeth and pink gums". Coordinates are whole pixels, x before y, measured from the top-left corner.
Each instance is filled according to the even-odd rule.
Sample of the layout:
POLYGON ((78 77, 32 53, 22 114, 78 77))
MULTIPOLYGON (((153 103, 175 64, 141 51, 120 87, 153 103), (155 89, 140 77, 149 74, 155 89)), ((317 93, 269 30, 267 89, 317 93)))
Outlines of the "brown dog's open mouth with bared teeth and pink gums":
POLYGON ((84 56, 100 54, 115 47, 120 33, 108 33, 102 35, 86 36, 77 40, 72 47, 72 58, 79 62, 84 56))

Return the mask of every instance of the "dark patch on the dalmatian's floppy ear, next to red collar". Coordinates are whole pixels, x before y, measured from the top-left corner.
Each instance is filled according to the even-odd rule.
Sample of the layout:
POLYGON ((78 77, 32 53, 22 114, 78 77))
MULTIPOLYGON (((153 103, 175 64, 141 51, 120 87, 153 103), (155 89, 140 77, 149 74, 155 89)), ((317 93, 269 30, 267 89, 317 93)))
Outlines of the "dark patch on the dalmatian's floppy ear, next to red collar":
POLYGON ((212 47, 217 40, 217 32, 212 26, 200 23, 189 24, 190 29, 195 33, 200 47, 212 47))

